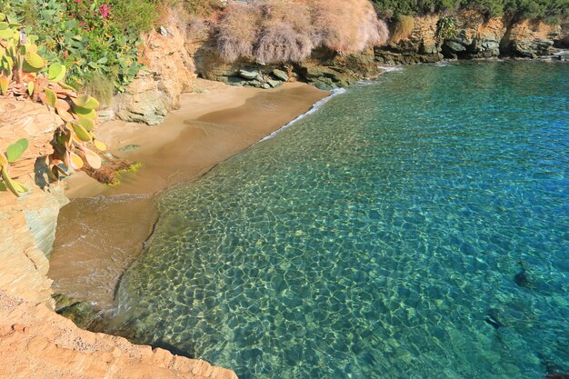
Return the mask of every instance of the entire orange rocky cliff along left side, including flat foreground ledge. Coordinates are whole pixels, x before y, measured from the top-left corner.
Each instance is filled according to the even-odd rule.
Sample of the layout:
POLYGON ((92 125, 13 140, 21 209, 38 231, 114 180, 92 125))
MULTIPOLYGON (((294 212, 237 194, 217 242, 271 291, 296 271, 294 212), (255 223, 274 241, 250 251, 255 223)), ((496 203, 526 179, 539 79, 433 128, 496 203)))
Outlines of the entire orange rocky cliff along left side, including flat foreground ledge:
POLYGON ((47 277, 62 185, 47 185, 45 155, 62 121, 45 106, 0 98, 0 150, 19 138, 30 146, 11 176, 30 191, 0 192, 0 377, 236 379, 231 370, 124 338, 79 329, 54 312, 47 277))

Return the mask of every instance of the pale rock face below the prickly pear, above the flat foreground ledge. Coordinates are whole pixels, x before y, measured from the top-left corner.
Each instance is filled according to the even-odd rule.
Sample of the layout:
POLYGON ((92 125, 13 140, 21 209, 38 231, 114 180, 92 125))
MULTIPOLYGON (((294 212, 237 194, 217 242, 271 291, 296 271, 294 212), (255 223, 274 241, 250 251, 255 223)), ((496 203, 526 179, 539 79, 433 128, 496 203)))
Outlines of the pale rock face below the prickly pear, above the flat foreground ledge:
POLYGON ((0 98, 0 110, 0 150, 19 138, 30 142, 10 174, 31 189, 19 198, 0 192, 0 290, 51 307, 46 254, 54 243, 57 214, 66 199, 63 188, 45 185, 41 171, 45 155, 53 153, 50 141, 62 121, 45 106, 27 101, 0 98))

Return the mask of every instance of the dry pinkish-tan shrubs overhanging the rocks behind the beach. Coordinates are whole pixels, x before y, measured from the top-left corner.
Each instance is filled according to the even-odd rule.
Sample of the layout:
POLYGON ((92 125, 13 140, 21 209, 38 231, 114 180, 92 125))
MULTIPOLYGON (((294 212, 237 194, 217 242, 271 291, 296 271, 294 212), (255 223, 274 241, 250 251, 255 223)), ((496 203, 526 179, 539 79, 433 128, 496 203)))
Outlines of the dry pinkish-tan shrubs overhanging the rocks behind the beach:
POLYGON ((321 45, 355 53, 384 44, 389 35, 367 0, 255 0, 229 7, 217 29, 219 53, 228 62, 239 56, 298 62, 321 45))

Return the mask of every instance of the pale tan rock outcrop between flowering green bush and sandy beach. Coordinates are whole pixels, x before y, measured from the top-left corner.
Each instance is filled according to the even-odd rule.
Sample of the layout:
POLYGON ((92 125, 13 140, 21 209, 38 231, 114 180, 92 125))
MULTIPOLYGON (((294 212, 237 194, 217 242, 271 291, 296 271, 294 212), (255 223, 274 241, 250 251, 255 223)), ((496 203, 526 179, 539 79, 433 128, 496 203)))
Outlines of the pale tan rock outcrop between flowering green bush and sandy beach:
POLYGON ((145 35, 141 61, 145 68, 124 94, 115 96, 115 113, 124 121, 158 125, 180 107, 180 95, 190 91, 195 79, 185 31, 172 25, 145 35))

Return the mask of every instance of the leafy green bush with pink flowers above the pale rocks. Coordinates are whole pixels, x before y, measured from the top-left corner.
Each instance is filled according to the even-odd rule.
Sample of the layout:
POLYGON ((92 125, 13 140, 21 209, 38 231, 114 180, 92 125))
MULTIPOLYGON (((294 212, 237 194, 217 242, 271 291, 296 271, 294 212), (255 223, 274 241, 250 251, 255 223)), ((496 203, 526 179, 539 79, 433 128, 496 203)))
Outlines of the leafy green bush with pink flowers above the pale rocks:
POLYGON ((116 91, 124 91, 138 73, 139 30, 121 25, 114 5, 103 0, 8 2, 8 13, 26 25, 38 52, 67 67, 71 85, 82 87, 98 74, 108 77, 116 91))

